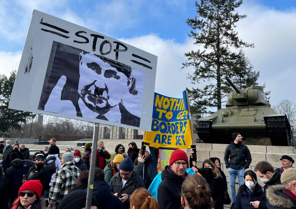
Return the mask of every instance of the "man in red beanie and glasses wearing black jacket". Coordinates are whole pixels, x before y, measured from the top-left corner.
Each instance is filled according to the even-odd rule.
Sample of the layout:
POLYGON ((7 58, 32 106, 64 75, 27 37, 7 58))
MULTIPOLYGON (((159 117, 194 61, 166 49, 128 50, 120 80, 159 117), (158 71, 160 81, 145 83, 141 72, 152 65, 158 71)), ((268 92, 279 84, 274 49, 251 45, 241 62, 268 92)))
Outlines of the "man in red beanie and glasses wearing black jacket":
POLYGON ((170 165, 161 173, 161 183, 157 189, 159 209, 181 209, 181 187, 188 175, 186 168, 188 157, 186 152, 177 149, 170 156, 170 165))

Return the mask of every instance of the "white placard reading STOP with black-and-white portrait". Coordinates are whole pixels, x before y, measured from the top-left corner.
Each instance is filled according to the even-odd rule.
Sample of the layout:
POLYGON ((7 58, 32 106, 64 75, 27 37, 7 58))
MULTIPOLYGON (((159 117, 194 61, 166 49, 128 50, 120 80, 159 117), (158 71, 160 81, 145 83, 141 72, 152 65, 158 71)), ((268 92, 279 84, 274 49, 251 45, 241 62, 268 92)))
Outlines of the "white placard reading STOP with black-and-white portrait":
POLYGON ((151 130, 157 57, 33 11, 9 108, 151 130))

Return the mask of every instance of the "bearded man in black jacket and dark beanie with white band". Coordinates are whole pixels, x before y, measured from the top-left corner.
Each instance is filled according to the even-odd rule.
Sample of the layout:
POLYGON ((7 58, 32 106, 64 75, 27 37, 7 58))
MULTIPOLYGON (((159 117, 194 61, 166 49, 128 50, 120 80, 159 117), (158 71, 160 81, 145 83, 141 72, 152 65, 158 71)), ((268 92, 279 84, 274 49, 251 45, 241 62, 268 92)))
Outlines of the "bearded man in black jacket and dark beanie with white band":
POLYGON ((49 189, 51 180, 49 171, 44 167, 44 159, 43 154, 37 154, 34 159, 35 165, 29 169, 27 176, 23 179, 23 183, 30 180, 39 180, 43 186, 41 196, 44 195, 44 191, 49 189))

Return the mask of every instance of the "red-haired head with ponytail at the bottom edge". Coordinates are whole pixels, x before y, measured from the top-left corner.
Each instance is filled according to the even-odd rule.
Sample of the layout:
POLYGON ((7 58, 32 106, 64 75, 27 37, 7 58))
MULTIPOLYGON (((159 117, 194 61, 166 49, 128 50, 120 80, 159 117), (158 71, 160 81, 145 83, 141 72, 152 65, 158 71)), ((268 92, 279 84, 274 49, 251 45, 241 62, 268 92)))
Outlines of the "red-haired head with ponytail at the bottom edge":
POLYGON ((157 200, 145 188, 136 189, 130 197, 131 209, 159 209, 157 200))

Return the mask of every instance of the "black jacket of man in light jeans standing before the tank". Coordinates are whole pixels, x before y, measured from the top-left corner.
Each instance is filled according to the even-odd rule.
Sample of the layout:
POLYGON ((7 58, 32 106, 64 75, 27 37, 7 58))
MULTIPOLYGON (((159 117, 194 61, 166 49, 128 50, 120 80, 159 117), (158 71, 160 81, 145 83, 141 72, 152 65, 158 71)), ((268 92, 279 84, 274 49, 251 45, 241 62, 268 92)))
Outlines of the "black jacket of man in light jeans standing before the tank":
POLYGON ((252 157, 250 150, 244 144, 240 144, 238 148, 234 145, 232 141, 225 149, 224 161, 226 164, 226 168, 232 169, 242 169, 249 168, 250 163, 252 162, 252 157), (229 159, 230 157, 230 159, 229 159))

